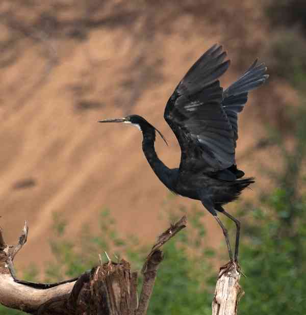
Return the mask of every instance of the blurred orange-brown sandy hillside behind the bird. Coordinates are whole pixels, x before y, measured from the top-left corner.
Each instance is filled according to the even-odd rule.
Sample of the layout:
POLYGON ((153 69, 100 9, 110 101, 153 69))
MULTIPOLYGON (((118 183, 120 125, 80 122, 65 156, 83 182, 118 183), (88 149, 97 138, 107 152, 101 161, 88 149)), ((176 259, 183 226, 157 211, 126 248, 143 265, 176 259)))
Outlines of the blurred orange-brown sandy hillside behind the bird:
MULTIPOLYGON (((97 228, 97 215, 107 206, 118 229, 152 242, 168 223, 158 217, 169 192, 145 161, 138 130, 97 120, 146 117, 169 140, 166 147, 158 139, 160 158, 175 167, 180 150, 163 111, 180 78, 218 42, 232 60, 222 78, 227 86, 269 37, 255 0, 80 3, 0 5, 0 215, 8 242, 24 220, 29 223, 19 268, 50 258, 54 212, 63 214, 74 235, 84 223, 97 228)), ((238 163, 248 175, 259 177, 258 161, 270 155, 249 159, 244 152, 264 136, 263 122, 279 104, 275 86, 252 93, 240 117, 238 163)), ((257 188, 244 196, 251 198, 257 188)), ((206 219, 208 237, 219 244, 218 227, 206 219)))

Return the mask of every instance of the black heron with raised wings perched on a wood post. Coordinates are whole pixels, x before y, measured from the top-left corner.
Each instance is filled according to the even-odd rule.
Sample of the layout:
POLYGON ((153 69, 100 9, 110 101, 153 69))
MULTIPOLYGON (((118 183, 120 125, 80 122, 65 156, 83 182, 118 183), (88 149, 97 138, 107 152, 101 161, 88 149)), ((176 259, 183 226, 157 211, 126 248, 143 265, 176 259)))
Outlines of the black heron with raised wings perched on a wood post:
POLYGON ((231 262, 238 263, 240 221, 227 213, 224 205, 236 200, 254 183, 244 177, 235 159, 238 140, 238 113, 248 92, 265 83, 269 75, 256 59, 236 82, 223 90, 219 77, 230 66, 222 45, 215 44, 192 65, 167 101, 164 119, 181 148, 179 168, 168 168, 155 150, 156 132, 162 133, 139 115, 99 120, 136 126, 143 136, 142 150, 157 177, 173 193, 201 201, 222 229, 231 262), (218 214, 236 224, 235 253, 228 231, 218 214))

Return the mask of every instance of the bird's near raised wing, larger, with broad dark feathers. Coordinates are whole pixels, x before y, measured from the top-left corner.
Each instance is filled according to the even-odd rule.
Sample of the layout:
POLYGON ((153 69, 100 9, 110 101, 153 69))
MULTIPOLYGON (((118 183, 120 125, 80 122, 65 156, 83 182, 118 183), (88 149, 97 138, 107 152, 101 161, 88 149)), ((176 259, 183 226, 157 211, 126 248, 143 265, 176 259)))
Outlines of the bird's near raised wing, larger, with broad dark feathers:
POLYGON ((234 132, 222 107, 218 77, 230 65, 214 45, 189 69, 167 102, 164 118, 180 143, 181 170, 214 172, 235 162, 234 132))

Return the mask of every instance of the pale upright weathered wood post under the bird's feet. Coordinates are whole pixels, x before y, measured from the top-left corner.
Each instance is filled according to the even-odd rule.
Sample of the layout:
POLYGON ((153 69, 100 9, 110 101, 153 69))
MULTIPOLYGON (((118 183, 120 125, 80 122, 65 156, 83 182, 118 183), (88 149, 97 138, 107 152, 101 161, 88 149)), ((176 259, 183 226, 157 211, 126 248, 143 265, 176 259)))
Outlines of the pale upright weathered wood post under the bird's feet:
POLYGON ((240 271, 235 263, 220 268, 212 303, 213 315, 236 315, 244 292, 239 285, 240 271))

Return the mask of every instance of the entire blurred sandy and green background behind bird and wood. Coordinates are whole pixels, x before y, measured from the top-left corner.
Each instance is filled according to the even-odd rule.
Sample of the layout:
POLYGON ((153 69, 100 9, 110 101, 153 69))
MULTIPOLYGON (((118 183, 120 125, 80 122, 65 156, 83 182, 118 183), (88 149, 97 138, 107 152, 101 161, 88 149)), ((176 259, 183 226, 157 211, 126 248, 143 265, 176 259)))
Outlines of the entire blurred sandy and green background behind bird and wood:
POLYGON ((257 181, 227 206, 243 222, 240 313, 304 314, 303 0, 2 0, 0 16, 0 223, 15 243, 28 221, 15 261, 20 278, 72 277, 104 250, 138 269, 157 235, 187 213, 189 233, 167 246, 149 313, 211 313, 227 259, 215 220, 163 187, 137 129, 97 120, 144 116, 170 143, 157 140, 160 158, 177 167, 180 148, 164 107, 217 42, 231 59, 222 86, 257 57, 270 74, 239 117, 237 164, 257 181))

